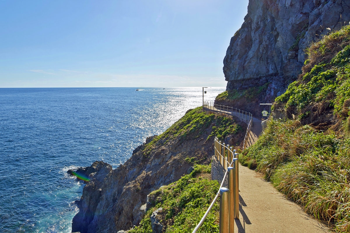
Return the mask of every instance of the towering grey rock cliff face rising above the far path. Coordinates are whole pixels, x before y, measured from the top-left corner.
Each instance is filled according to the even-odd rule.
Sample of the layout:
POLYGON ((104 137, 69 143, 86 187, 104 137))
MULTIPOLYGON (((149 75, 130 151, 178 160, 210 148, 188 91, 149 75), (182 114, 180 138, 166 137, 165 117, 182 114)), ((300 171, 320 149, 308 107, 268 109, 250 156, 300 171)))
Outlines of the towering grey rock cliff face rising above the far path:
POLYGON ((304 49, 349 21, 349 0, 250 0, 224 58, 226 90, 267 83, 255 99, 241 101, 255 103, 242 109, 253 111, 260 109, 259 103, 271 103, 300 73, 307 59, 304 49))

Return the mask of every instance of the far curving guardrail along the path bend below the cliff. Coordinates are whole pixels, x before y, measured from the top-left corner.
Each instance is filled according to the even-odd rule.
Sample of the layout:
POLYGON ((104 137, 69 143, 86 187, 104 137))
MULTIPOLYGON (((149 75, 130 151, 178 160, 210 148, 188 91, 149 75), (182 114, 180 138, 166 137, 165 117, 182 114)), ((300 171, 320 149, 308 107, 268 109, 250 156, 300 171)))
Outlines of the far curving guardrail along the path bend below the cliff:
POLYGON ((250 112, 246 112, 238 108, 214 104, 214 102, 212 101, 204 101, 203 108, 210 111, 223 112, 231 116, 237 116, 238 118, 242 119, 245 123, 247 123, 248 124, 247 131, 245 133, 245 137, 243 140, 243 151, 248 147, 248 140, 250 137, 252 124, 253 124, 253 115, 250 112))

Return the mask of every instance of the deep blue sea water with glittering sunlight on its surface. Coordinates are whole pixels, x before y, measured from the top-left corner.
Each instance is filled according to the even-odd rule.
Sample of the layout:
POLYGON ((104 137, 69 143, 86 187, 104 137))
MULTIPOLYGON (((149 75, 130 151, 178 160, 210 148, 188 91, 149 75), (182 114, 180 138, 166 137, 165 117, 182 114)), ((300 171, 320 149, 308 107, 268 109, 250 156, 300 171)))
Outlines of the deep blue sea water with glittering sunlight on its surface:
POLYGON ((71 232, 84 184, 68 169, 116 168, 200 105, 202 88, 0 88, 0 232, 71 232))

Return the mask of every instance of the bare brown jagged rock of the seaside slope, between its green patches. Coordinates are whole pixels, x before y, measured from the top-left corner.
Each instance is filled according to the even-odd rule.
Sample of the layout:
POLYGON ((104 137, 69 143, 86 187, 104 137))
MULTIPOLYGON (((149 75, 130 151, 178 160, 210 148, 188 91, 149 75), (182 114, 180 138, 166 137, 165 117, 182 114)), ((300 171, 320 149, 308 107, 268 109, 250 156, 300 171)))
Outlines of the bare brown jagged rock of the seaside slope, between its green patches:
MULTIPOLYGON (((239 132, 242 140, 246 124, 239 124, 243 128, 239 132)), ((134 153, 117 169, 104 172, 104 177, 98 172, 93 177, 90 175, 92 179, 78 202, 79 212, 73 218, 72 231, 116 233, 139 225, 150 204, 147 195, 187 174, 193 165, 187 158, 210 163, 213 140, 207 138, 214 125, 215 121, 194 131, 195 135, 177 135, 178 131, 171 131, 173 137, 165 132, 165 136, 153 137, 153 141, 148 139, 143 150, 134 153)))

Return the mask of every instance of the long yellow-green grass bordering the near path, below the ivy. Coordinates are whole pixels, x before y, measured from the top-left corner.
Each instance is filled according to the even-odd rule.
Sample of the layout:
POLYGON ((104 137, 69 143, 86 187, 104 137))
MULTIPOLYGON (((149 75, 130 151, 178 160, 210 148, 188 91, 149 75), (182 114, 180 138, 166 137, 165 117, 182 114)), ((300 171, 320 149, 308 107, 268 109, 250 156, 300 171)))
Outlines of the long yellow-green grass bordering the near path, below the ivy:
POLYGON ((315 218, 350 231, 350 140, 297 120, 271 120, 239 158, 315 218))

